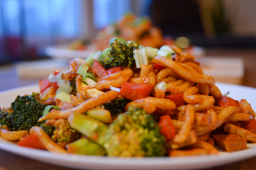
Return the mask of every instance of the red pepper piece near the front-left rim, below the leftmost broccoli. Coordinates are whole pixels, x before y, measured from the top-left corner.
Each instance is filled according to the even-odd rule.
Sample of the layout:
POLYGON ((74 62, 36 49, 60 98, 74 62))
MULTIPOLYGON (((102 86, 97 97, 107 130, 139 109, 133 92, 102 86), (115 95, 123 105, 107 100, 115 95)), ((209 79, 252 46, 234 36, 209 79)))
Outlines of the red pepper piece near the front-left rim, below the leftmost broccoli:
POLYGON ((40 143, 37 136, 35 135, 25 136, 23 139, 17 142, 17 145, 35 149, 45 149, 44 146, 40 143))

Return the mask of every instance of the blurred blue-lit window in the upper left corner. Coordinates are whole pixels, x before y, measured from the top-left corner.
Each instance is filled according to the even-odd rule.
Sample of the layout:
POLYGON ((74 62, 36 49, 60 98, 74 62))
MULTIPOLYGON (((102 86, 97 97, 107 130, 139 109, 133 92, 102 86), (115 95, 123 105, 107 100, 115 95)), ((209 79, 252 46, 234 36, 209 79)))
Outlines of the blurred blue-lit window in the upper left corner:
POLYGON ((81 0, 1 0, 0 63, 44 57, 44 48, 81 31, 81 0))

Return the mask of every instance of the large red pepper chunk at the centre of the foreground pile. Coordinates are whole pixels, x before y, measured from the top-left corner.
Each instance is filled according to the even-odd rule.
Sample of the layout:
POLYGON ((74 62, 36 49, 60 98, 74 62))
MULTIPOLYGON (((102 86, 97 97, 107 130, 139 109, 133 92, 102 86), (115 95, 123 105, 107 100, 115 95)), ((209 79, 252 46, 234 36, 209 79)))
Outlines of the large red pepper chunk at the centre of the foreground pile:
POLYGON ((149 96, 153 88, 152 84, 124 82, 119 94, 130 100, 136 100, 149 96))

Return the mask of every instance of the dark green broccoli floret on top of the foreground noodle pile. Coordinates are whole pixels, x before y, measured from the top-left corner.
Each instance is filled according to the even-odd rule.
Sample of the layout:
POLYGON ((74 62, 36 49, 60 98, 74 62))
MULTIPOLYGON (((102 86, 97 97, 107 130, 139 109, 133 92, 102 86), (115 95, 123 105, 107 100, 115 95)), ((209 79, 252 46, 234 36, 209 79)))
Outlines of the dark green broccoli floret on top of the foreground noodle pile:
POLYGON ((114 43, 110 45, 108 57, 101 60, 101 63, 106 69, 121 65, 127 65, 128 67, 131 67, 135 63, 133 50, 138 48, 138 44, 134 44, 132 42, 125 44, 114 40, 114 43))

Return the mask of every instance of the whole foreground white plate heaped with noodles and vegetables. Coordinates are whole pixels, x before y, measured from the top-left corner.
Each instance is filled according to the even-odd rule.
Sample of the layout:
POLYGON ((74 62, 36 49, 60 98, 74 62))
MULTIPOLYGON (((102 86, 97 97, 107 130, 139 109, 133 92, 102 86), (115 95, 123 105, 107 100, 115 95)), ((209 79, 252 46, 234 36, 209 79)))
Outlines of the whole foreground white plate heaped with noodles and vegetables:
POLYGON ((255 88, 216 83, 174 45, 111 41, 1 92, 0 148, 81 169, 198 169, 256 155, 255 88))

